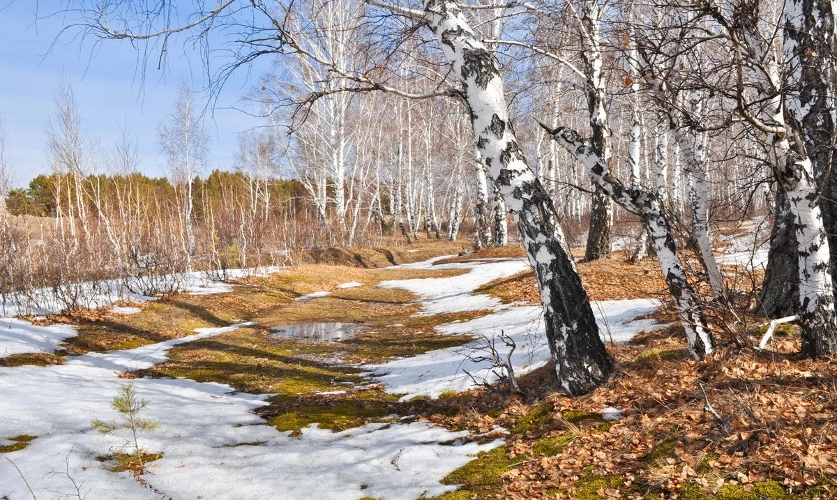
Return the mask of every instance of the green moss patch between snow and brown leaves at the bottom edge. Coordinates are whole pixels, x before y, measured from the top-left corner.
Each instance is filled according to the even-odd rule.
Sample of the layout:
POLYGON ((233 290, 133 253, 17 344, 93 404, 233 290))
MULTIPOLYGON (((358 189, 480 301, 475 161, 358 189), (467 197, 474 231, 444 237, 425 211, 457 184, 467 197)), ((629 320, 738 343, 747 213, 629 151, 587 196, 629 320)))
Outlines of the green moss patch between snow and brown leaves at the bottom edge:
POLYGON ((519 458, 506 455, 506 446, 500 446, 489 452, 480 452, 475 460, 449 473, 442 484, 460 485, 456 492, 445 493, 438 498, 460 500, 465 498, 487 498, 501 492, 503 474, 514 468, 519 458))

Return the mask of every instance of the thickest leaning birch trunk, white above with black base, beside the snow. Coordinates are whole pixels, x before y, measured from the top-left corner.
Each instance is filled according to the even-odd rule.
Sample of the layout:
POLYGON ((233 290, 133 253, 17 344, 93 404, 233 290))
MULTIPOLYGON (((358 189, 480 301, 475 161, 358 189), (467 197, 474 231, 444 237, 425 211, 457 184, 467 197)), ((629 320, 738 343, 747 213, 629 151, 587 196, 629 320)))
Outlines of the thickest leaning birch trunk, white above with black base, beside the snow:
POLYGON ((517 144, 496 58, 453 0, 424 0, 424 13, 461 79, 477 149, 516 219, 534 268, 558 382, 572 395, 589 392, 607 380, 613 362, 552 201, 517 144))

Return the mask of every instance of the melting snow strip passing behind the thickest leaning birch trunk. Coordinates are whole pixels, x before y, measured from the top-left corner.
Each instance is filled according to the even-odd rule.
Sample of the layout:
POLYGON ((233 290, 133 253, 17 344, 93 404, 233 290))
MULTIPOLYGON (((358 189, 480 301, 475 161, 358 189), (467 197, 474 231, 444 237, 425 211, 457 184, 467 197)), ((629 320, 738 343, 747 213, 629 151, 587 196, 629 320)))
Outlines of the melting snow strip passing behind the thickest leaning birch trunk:
MULTIPOLYGON (((434 259, 438 260, 438 259, 434 259)), ((516 349, 511 361, 517 375, 535 370, 550 358, 540 306, 507 306, 488 295, 473 295, 476 288, 498 278, 529 268, 523 260, 484 259, 465 263, 433 266, 433 261, 408 264, 412 268, 467 268, 469 273, 452 278, 408 279, 383 282, 384 288, 405 288, 422 297, 424 311, 440 314, 473 309, 494 309, 494 314, 470 321, 444 324, 436 329, 443 334, 482 334, 496 339, 501 333, 511 337, 516 349)), ((404 266, 407 267, 407 266, 404 266)), ((599 331, 605 342, 626 342, 643 330, 665 325, 654 319, 637 319, 653 313, 660 302, 651 298, 593 302, 599 331)), ((505 358, 510 348, 497 339, 496 350, 505 358)), ((477 380, 493 382, 497 375, 485 362, 469 359, 489 354, 485 339, 461 347, 439 349, 412 358, 381 365, 368 365, 368 374, 383 383, 390 394, 402 394, 403 400, 419 395, 436 397, 447 390, 468 390, 477 380), (470 375, 468 375, 468 373, 470 375)))

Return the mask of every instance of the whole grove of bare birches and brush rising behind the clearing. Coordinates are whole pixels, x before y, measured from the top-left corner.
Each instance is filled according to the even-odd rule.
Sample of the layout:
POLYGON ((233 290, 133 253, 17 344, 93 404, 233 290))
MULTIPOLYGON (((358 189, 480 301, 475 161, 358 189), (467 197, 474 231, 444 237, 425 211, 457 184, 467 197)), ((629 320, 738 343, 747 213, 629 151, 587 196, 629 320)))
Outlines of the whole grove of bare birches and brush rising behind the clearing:
MULTIPOLYGON (((264 127, 242 135, 234 172, 215 170, 199 93, 182 89, 160 126, 171 175, 155 184, 136 175, 131 140, 97 154, 59 90, 40 208, 64 262, 106 241, 112 255, 100 258, 118 260, 125 283, 276 263, 290 248, 519 245, 572 395, 614 371, 573 247, 585 265, 657 259, 696 360, 752 314, 795 316, 801 354, 829 356, 834 10, 827 0, 230 1, 177 23, 129 0, 80 5, 83 35, 149 52, 170 38, 210 51, 208 33, 235 27, 232 59, 207 71, 203 97, 269 59, 246 96, 264 127), (95 176, 107 157, 121 172, 95 176), (755 289, 743 289, 744 271, 716 255, 757 224, 772 227, 768 263, 747 270, 755 289)), ((8 196, 26 213, 23 198, 8 196)))

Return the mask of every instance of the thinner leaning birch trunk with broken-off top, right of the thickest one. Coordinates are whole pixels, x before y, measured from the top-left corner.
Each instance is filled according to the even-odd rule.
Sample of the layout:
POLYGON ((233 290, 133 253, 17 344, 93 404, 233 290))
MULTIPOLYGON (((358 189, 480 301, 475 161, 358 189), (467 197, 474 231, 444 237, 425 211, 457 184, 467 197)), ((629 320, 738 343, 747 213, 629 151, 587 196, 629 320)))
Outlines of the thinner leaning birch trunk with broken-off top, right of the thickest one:
MULTIPOLYGON (((547 125, 542 126, 548 130, 547 125)), ((706 326, 700 300, 686 279, 686 272, 677 256, 674 238, 671 236, 668 217, 665 216, 660 198, 655 191, 639 184, 623 186, 619 180, 610 175, 608 167, 599 160, 595 151, 578 135, 578 132, 558 127, 551 130, 551 133, 558 144, 587 168, 590 179, 596 186, 601 187, 625 210, 642 217, 657 258, 660 260, 660 269, 665 277, 665 283, 669 287, 671 297, 675 300, 683 329, 686 330, 689 351, 696 360, 700 360, 704 355, 711 355, 715 349, 715 340, 706 326)))

